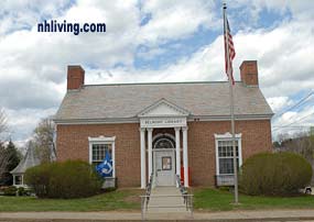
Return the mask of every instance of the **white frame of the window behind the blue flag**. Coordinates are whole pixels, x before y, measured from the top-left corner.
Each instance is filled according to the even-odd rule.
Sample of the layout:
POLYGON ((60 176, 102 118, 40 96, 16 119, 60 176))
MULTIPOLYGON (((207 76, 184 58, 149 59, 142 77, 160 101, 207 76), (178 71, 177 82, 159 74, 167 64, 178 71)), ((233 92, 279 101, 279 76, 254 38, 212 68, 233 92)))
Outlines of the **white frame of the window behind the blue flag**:
POLYGON ((98 137, 88 137, 89 142, 89 164, 93 163, 93 145, 95 144, 109 144, 111 145, 111 158, 112 158, 112 178, 116 178, 116 136, 107 137, 104 135, 100 135, 98 137))

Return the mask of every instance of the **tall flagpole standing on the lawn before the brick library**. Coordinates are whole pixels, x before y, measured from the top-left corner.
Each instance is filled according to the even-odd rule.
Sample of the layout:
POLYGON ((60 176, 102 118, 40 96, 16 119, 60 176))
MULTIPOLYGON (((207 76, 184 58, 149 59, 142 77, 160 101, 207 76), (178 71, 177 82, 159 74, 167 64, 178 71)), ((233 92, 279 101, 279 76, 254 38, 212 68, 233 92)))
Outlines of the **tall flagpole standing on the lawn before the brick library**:
MULTIPOLYGON (((226 9, 227 5, 224 3, 224 37, 227 34, 227 16, 226 16, 226 9)), ((229 95, 230 95, 230 115, 231 115, 231 133, 232 133, 232 153, 234 153, 234 173, 235 173, 235 203, 239 202, 239 193, 238 193, 238 164, 237 164, 237 151, 236 151, 236 138, 235 138, 235 109, 234 109, 234 87, 232 87, 232 79, 230 74, 230 57, 229 57, 229 44, 225 40, 225 49, 226 49, 226 59, 227 59, 227 75, 229 79, 229 95)))

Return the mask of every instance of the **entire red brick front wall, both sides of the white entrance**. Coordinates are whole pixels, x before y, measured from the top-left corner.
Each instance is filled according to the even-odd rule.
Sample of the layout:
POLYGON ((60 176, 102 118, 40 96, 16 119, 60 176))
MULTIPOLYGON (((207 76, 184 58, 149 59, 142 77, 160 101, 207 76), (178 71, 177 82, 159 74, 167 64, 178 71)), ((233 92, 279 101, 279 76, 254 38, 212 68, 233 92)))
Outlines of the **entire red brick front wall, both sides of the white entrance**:
MULTIPOLYGON (((138 123, 57 125, 57 159, 88 162, 88 136, 116 136, 118 186, 140 187, 139 127, 138 123)), ((173 134, 172 130, 154 130, 153 134, 158 132, 173 134)), ((230 132, 229 121, 188 122, 187 146, 192 186, 214 186, 216 174, 214 133, 226 132, 230 132)), ((271 151, 270 121, 236 121, 236 132, 242 133, 243 160, 252 154, 271 151)))

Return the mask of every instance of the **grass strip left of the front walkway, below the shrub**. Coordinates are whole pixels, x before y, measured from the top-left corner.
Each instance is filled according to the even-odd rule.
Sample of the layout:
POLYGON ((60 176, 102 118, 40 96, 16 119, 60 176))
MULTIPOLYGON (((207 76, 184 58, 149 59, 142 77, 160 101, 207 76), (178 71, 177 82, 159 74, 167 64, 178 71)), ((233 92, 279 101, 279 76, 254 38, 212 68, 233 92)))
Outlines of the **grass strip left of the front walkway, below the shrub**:
POLYGON ((82 199, 39 199, 0 196, 0 212, 139 210, 140 189, 121 189, 82 199))

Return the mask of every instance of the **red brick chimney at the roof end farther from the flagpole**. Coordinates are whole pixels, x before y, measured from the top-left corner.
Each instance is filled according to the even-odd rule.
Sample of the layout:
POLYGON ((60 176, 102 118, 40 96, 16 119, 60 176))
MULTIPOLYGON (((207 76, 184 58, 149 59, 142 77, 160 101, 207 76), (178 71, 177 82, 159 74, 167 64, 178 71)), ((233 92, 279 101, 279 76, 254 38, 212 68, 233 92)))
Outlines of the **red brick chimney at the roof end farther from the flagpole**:
POLYGON ((79 89, 84 85, 85 70, 82 66, 67 66, 67 90, 79 89))

